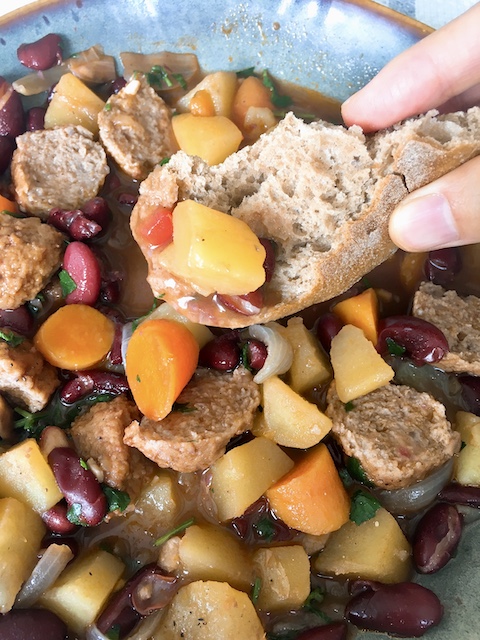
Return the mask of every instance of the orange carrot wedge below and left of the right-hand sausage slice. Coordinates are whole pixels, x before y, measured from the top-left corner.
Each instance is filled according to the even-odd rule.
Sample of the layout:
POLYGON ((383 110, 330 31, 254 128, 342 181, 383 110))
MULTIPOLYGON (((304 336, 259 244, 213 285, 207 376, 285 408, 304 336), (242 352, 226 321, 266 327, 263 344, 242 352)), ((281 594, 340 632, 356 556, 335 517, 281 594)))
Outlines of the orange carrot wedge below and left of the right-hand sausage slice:
POLYGON ((303 533, 330 533, 349 518, 350 498, 324 444, 307 451, 266 495, 274 513, 303 533))

